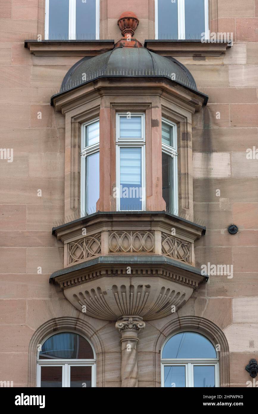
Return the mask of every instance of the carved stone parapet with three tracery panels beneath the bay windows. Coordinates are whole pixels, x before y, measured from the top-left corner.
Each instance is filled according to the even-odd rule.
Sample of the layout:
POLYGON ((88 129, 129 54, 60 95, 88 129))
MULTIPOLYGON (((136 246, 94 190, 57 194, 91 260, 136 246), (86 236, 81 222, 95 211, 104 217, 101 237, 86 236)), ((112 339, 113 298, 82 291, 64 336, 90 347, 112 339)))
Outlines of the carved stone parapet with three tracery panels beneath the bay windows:
POLYGON ((165 212, 98 212, 53 229, 64 243, 64 267, 102 255, 164 255, 195 265, 203 226, 165 212))

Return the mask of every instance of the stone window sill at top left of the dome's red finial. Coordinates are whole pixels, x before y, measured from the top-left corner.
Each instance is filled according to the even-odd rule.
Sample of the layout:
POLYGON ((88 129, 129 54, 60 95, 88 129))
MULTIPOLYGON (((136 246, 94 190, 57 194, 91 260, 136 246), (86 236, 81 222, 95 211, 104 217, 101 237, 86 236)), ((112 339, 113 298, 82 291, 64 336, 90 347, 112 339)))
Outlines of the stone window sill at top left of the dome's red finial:
POLYGON ((114 48, 114 40, 25 40, 36 56, 96 56, 114 48))

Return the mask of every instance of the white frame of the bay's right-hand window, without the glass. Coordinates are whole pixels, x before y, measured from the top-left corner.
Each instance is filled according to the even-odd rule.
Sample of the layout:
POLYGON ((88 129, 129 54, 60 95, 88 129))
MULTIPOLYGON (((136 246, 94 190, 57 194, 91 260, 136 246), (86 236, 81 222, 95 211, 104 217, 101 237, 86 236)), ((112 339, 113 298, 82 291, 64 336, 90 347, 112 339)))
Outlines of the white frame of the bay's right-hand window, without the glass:
POLYGON ((178 152, 177 152, 177 124, 162 118, 162 123, 165 123, 172 127, 173 131, 173 146, 164 144, 162 142, 162 152, 171 156, 173 159, 173 211, 172 213, 178 215, 178 152))

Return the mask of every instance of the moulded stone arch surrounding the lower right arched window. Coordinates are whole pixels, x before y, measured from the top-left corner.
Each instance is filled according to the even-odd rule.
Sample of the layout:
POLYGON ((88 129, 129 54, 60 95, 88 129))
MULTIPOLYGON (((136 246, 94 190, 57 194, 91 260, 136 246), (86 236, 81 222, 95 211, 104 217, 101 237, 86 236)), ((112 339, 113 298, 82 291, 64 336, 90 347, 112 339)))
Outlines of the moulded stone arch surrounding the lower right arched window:
POLYGON ((194 330, 210 339, 214 345, 220 345, 220 387, 229 387, 229 346, 227 339, 215 323, 198 316, 182 316, 170 321, 160 330, 160 335, 154 348, 156 383, 160 383, 160 350, 163 343, 169 335, 186 330, 194 330))

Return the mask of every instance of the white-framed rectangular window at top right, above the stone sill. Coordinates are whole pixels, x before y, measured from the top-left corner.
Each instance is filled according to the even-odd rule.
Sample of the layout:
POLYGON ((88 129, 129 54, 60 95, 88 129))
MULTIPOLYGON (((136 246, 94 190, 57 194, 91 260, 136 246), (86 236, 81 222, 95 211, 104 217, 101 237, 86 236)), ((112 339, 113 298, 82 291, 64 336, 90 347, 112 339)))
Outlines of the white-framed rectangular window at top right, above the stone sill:
POLYGON ((155 0, 156 39, 209 36, 208 0, 155 0))

